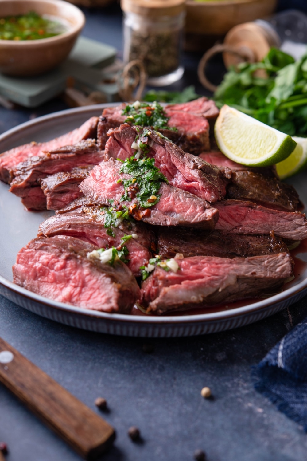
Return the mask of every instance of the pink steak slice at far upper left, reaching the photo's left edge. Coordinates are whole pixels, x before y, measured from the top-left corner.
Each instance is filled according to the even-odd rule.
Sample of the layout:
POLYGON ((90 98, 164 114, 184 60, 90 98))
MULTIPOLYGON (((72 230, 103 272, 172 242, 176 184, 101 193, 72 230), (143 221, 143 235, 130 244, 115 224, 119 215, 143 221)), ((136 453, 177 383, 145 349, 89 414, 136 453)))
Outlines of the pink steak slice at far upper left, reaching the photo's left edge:
POLYGON ((62 146, 76 144, 83 139, 96 138, 98 117, 87 120, 80 128, 76 128, 63 136, 52 139, 48 142, 30 142, 23 146, 10 149, 0 154, 0 180, 10 183, 13 178, 13 168, 20 162, 24 162, 29 157, 44 155, 62 146))

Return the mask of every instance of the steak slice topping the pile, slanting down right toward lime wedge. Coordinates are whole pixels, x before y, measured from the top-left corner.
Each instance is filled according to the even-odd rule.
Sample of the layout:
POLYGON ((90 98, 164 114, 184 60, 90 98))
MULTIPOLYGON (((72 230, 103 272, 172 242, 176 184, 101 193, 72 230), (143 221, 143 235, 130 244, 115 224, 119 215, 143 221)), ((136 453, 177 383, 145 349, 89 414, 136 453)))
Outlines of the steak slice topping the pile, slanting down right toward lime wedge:
MULTIPOLYGON (((191 194, 211 203, 225 197, 226 171, 209 165, 195 155, 183 152, 173 142, 156 131, 122 124, 119 128, 110 130, 109 136, 105 146, 106 158, 113 157, 125 160, 127 157, 138 153, 136 149, 131 147, 137 138, 137 142, 143 143, 146 155, 155 158, 155 165, 167 177, 170 185, 191 192, 191 194)), ((231 176, 230 170, 224 170, 227 170, 231 176)))

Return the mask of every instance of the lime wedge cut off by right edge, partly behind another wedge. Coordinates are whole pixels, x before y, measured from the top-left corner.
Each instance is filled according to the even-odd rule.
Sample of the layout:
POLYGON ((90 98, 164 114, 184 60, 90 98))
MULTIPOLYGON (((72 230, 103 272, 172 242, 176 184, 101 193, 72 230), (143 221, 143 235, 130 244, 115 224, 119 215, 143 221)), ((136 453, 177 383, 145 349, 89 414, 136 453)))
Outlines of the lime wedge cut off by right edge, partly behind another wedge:
POLYGON ((307 167, 307 138, 293 136, 292 139, 297 142, 294 151, 285 160, 276 164, 280 179, 293 176, 307 167))

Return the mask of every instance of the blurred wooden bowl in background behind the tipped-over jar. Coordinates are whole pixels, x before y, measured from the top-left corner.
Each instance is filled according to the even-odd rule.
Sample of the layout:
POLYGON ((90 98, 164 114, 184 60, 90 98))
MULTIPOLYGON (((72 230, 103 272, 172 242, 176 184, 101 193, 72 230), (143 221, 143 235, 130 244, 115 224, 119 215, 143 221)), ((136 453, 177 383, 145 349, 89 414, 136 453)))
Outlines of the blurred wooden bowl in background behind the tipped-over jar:
POLYGON ((225 35, 237 24, 264 18, 271 14, 277 0, 186 0, 187 33, 225 35))

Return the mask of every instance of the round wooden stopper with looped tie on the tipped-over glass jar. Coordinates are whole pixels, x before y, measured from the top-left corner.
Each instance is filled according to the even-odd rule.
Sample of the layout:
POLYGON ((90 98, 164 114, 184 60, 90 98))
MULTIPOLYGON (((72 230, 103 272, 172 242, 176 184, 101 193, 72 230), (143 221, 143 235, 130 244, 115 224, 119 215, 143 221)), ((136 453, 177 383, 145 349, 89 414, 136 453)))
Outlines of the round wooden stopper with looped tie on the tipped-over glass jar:
POLYGON ((217 87, 209 82, 205 73, 207 62, 212 56, 223 53, 223 61, 228 69, 231 65, 237 65, 243 61, 259 62, 271 47, 279 46, 278 34, 267 25, 266 21, 257 20, 239 24, 227 33, 224 43, 214 45, 203 55, 198 65, 198 78, 205 88, 215 91, 217 87))

